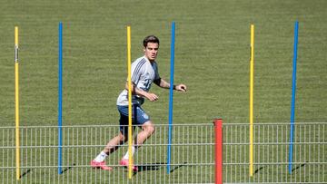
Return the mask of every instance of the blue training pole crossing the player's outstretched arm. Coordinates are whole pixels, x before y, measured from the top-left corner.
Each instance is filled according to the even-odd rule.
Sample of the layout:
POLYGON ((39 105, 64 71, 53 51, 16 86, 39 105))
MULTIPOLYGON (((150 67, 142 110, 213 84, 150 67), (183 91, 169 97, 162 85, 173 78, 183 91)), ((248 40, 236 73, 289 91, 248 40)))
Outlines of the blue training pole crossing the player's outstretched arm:
POLYGON ((173 64, 174 64, 174 30, 175 23, 172 22, 172 41, 171 41, 171 79, 169 89, 169 126, 168 126, 168 148, 167 148, 167 174, 170 173, 172 155, 172 131, 173 131, 173 64))

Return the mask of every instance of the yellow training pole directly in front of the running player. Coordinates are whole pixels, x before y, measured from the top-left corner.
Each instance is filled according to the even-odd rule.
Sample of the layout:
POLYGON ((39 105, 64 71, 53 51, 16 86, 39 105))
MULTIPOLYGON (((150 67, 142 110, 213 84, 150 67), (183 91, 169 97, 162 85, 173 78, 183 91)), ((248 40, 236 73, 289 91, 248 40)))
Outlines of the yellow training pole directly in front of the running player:
POLYGON ((128 70, 128 178, 132 179, 132 77, 131 77, 131 26, 127 26, 128 70))

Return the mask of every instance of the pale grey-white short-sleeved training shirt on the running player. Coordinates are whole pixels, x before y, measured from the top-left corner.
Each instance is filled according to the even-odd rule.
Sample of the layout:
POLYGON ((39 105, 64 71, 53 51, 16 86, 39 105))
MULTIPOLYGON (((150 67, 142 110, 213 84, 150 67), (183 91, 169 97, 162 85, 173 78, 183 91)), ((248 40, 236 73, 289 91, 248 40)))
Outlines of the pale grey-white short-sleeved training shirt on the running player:
MULTIPOLYGON (((154 80, 160 78, 157 63, 155 61, 150 62, 145 56, 136 59, 132 63, 131 75, 134 85, 145 92, 149 92, 154 80)), ((142 105, 144 97, 132 94, 132 103, 142 105)), ((128 105, 128 91, 126 89, 119 94, 117 105, 128 105)))

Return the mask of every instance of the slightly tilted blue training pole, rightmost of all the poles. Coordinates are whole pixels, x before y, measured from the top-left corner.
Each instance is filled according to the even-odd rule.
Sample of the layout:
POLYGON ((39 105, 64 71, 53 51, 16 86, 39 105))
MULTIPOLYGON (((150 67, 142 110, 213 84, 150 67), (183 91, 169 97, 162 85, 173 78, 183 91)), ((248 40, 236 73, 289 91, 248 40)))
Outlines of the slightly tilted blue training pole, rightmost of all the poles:
POLYGON ((292 71, 292 103, 291 103, 291 132, 290 132, 290 149, 289 149, 289 173, 292 174, 292 150, 294 140, 294 114, 295 114, 295 91, 296 91, 296 59, 297 59, 297 43, 298 43, 299 23, 296 21, 294 25, 294 48, 293 48, 293 71, 292 71))

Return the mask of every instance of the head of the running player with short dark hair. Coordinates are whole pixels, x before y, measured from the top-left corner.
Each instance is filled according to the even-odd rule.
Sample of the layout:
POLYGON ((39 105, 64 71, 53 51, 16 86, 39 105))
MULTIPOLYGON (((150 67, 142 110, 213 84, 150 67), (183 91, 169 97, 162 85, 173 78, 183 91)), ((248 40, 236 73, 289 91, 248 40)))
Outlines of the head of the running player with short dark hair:
POLYGON ((144 54, 150 62, 153 62, 158 54, 159 39, 154 35, 144 38, 144 54))

